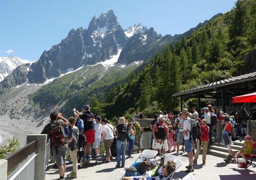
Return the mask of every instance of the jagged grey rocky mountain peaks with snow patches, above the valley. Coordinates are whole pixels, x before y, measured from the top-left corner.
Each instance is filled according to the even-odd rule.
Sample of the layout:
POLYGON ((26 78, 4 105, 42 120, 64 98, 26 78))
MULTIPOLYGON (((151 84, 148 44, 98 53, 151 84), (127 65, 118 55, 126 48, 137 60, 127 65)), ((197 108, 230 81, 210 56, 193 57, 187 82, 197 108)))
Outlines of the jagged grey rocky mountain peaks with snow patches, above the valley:
POLYGON ((108 60, 117 55, 120 49, 123 50, 117 64, 143 61, 175 37, 162 37, 153 28, 147 30, 140 23, 124 31, 113 10, 110 10, 97 18, 94 16, 88 29, 72 29, 67 38, 53 45, 50 50, 45 50, 40 59, 31 65, 28 80, 29 83, 44 83, 69 69, 108 60), (125 33, 130 33, 130 38, 125 33))

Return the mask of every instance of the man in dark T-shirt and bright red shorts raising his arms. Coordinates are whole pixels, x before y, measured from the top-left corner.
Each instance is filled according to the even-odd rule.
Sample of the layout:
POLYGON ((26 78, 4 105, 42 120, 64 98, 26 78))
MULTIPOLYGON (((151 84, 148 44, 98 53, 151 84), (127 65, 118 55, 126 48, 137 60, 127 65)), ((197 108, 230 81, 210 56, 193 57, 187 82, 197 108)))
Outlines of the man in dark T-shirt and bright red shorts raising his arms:
POLYGON ((92 153, 92 144, 94 143, 94 135, 95 135, 95 130, 94 130, 94 115, 90 111, 90 106, 86 105, 83 106, 83 114, 77 113, 76 109, 73 109, 74 116, 76 118, 81 118, 83 120, 83 133, 86 136, 86 148, 83 149, 83 155, 87 155, 87 149, 88 149, 88 155, 84 158, 91 160, 91 153, 92 153))

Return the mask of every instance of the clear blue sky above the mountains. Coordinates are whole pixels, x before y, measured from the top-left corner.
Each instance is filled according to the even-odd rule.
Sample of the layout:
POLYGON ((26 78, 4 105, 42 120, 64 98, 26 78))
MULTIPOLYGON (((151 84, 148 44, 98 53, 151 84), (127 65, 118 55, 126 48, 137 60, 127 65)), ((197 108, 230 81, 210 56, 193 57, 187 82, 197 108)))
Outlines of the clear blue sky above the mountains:
POLYGON ((94 15, 110 9, 123 29, 141 22, 157 33, 181 34, 236 0, 1 0, 0 57, 34 61, 71 29, 87 28, 94 15))

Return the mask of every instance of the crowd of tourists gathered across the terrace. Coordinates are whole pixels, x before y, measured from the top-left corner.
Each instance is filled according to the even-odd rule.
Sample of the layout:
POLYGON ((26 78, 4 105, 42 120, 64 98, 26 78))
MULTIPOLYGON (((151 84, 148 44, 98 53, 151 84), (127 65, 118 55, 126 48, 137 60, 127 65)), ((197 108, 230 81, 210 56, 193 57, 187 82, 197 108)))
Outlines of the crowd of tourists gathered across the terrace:
MULTIPOLYGON (((133 158, 134 145, 137 146, 137 152, 142 152, 145 149, 141 145, 142 128, 136 120, 143 117, 142 112, 135 114, 135 118, 131 118, 129 121, 124 117, 119 117, 116 125, 112 125, 106 118, 95 117, 91 113, 89 105, 83 107, 83 112, 73 109, 73 113, 74 116, 67 120, 62 114, 52 112, 50 114, 51 122, 45 126, 41 133, 48 134, 48 138, 51 141, 52 153, 55 156, 60 180, 64 179, 66 172, 67 150, 69 150, 73 163, 73 170, 67 176, 69 178, 77 178, 77 169, 79 167, 77 160, 80 160, 81 166, 83 161, 102 158, 100 156, 100 144, 102 142, 105 154, 103 162, 111 162, 114 156, 117 160, 116 168, 124 167, 125 159, 133 158), (79 152, 80 149, 83 149, 82 155, 79 152)), ((207 148, 213 144, 216 124, 221 121, 223 126, 222 141, 229 152, 224 161, 231 163, 239 155, 244 157, 244 155, 251 152, 252 140, 247 135, 243 149, 232 159, 232 138, 241 141, 241 138, 237 136, 236 119, 233 116, 229 116, 222 111, 217 116, 210 105, 205 107, 200 114, 203 115, 199 117, 196 107, 193 107, 193 112, 191 113, 184 108, 181 112, 167 113, 160 111, 159 114, 155 114, 154 120, 150 125, 152 130, 152 149, 158 151, 158 155, 176 152, 176 155, 179 156, 180 153, 186 151, 189 160, 186 172, 193 172, 193 164, 197 163, 201 148, 203 149, 202 163, 206 164, 207 148)), ((245 124, 246 122, 244 121, 243 123, 245 124)), ((240 132, 246 134, 246 127, 241 125, 240 128, 240 132)), ((162 174, 160 176, 164 176, 175 169, 175 163, 172 161, 165 163, 159 172, 162 174), (166 169, 164 169, 165 167, 166 169)), ((136 179, 135 177, 127 177, 132 175, 126 174, 123 179, 136 179)), ((140 177, 137 179, 140 179, 140 177)))

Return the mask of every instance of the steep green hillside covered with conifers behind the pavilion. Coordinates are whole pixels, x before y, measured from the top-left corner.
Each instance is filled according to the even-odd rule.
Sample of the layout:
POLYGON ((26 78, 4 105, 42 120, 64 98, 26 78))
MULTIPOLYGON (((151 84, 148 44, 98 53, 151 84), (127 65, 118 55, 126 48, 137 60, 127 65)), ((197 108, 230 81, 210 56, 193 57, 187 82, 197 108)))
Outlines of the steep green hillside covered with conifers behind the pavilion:
POLYGON ((102 111, 112 118, 137 111, 150 116, 159 109, 172 110, 178 106, 172 98, 175 92, 246 71, 241 57, 255 49, 255 18, 255 1, 238 1, 231 11, 156 54, 129 82, 113 87, 102 111))

